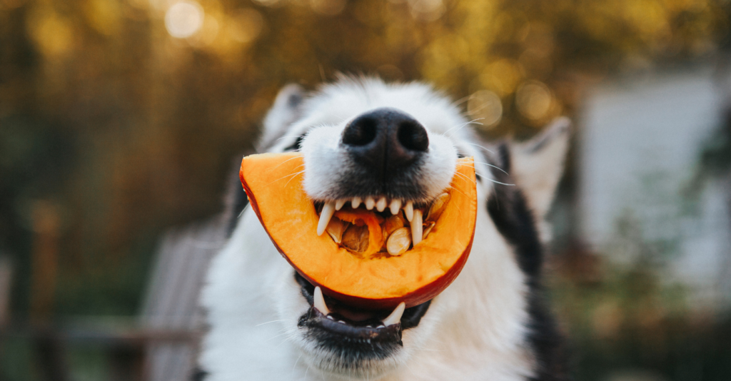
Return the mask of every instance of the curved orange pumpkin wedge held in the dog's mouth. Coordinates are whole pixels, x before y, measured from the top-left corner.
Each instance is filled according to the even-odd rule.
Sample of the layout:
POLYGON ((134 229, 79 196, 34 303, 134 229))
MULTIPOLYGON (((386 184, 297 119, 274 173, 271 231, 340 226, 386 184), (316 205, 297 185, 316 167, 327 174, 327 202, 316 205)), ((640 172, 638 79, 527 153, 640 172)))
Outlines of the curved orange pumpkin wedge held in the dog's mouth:
MULTIPOLYGON (((431 300, 460 273, 477 219, 472 158, 459 159, 458 174, 444 191, 450 193, 449 201, 426 238, 398 256, 374 257, 349 252, 327 233, 317 235, 319 216, 302 189, 303 165, 298 153, 246 156, 240 178, 274 246, 322 293, 363 309, 393 309, 402 301, 411 307, 431 300)), ((341 214, 342 219, 356 217, 341 214)), ((380 231, 370 234, 371 241, 385 240, 380 231)), ((371 246, 372 242, 368 252, 373 251, 371 246)))

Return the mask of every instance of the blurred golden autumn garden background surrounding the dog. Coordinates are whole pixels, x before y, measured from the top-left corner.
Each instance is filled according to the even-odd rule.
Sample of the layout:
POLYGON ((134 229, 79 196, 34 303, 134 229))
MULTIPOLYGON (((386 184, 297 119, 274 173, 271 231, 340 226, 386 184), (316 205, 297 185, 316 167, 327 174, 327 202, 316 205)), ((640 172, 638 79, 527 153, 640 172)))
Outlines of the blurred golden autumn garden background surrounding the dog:
POLYGON ((486 139, 570 116, 546 281, 575 379, 729 380, 730 15, 727 0, 0 0, 0 380, 162 380, 160 342, 190 358, 188 318, 145 328, 189 271, 161 237, 216 221, 281 86, 338 72, 427 80, 486 139))

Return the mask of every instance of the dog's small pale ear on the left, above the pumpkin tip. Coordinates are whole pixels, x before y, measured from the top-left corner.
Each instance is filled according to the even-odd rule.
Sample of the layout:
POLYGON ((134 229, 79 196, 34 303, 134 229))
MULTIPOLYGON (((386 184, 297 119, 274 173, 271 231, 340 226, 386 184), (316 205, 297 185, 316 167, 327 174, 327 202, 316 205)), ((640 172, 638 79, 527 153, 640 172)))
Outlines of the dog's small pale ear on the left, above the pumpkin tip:
POLYGON ((257 144, 257 151, 266 151, 266 148, 282 137, 289 125, 299 118, 304 95, 304 89, 295 83, 289 83, 281 88, 274 105, 264 118, 262 137, 257 144))

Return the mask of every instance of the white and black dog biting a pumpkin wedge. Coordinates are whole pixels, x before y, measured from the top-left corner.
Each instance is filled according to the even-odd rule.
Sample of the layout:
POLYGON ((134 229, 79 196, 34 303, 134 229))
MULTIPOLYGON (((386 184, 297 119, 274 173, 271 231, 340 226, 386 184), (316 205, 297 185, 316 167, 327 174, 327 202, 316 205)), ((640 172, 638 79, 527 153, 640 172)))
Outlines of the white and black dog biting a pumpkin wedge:
MULTIPOLYGON (((343 77, 312 94, 282 89, 259 148, 300 150, 303 187, 313 200, 430 200, 450 184, 458 157, 474 156, 474 245, 455 282, 406 309, 400 323, 381 332, 337 323, 313 312, 314 287, 277 252, 251 208, 243 209, 239 192, 232 208, 243 214, 233 220, 202 293, 210 331, 200 376, 567 380, 541 268, 543 219, 563 171, 569 122, 558 119, 527 143, 489 149, 469 124, 457 105, 423 83, 343 77)), ((327 296, 325 302, 337 303, 327 296)))

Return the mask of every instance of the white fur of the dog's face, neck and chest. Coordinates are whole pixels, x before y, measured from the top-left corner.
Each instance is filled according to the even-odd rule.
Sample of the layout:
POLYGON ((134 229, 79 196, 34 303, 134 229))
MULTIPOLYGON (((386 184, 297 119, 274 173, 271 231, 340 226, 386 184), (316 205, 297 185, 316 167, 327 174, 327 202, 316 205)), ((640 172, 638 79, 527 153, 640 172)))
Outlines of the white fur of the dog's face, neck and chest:
MULTIPOLYGON (((248 208, 227 246, 213 260, 202 304, 211 330, 200 366, 207 381, 240 380, 525 380, 535 363, 526 348, 526 278, 515 254, 488 216, 491 172, 467 121, 450 101, 420 83, 341 79, 306 99, 302 117, 270 151, 282 151, 308 132, 306 178, 323 182, 341 170, 336 148, 347 121, 376 107, 394 107, 428 129, 433 189, 452 177, 455 149, 474 156, 479 206, 474 245, 454 283, 433 299, 417 327, 404 331, 403 350, 365 369, 344 371, 318 352, 298 328, 309 305, 293 270, 248 208), (433 149, 432 149, 433 147, 433 149)), ((276 111, 275 110, 272 111, 276 111)), ((271 135, 269 135, 271 138, 271 135)), ((324 184, 307 184, 310 195, 324 184)))

